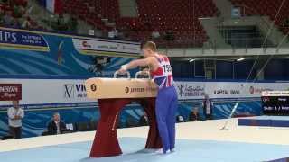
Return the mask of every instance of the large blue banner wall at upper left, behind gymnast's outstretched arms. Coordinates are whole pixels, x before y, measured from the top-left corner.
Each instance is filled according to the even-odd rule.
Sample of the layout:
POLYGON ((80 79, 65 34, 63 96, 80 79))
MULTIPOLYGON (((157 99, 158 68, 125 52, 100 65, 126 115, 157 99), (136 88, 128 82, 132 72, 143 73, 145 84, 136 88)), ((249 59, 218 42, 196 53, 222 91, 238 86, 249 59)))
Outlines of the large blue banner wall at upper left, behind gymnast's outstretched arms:
MULTIPOLYGON (((134 59, 121 58, 126 54, 117 55, 117 52, 113 52, 119 58, 110 53, 107 62, 99 62, 98 58, 107 56, 107 53, 100 51, 86 55, 81 54, 73 44, 73 40, 75 40, 75 42, 79 42, 81 47, 81 39, 89 39, 91 45, 95 45, 96 40, 99 40, 59 33, 0 27, 0 77, 112 77, 121 65, 134 59)), ((115 41, 116 43, 119 42, 115 41)), ((124 43, 125 41, 121 42, 124 43)), ((129 44, 129 42, 127 43, 129 44)), ((135 44, 131 42, 131 44, 137 45, 136 42, 135 44)), ((128 49, 125 52, 129 52, 128 49)), ((135 70, 131 72, 134 74, 135 70)))

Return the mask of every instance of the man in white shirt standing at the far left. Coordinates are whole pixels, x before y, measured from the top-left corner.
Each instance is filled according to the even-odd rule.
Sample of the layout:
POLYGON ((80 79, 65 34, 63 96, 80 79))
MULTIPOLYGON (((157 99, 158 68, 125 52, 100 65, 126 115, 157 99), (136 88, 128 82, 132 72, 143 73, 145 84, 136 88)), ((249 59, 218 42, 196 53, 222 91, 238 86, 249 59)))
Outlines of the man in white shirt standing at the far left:
POLYGON ((13 107, 7 110, 9 130, 14 139, 21 139, 24 111, 19 106, 19 101, 13 101, 12 103, 13 107))

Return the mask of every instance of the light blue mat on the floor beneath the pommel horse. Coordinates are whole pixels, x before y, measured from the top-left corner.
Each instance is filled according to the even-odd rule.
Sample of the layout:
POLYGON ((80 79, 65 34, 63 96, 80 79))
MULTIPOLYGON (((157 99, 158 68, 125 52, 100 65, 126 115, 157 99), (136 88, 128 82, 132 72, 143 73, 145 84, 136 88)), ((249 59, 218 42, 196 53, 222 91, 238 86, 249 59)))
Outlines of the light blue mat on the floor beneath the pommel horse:
POLYGON ((119 139, 124 152, 118 157, 89 158, 91 141, 1 152, 3 162, 257 162, 289 157, 289 146, 210 140, 176 141, 166 155, 144 150, 145 139, 119 139))

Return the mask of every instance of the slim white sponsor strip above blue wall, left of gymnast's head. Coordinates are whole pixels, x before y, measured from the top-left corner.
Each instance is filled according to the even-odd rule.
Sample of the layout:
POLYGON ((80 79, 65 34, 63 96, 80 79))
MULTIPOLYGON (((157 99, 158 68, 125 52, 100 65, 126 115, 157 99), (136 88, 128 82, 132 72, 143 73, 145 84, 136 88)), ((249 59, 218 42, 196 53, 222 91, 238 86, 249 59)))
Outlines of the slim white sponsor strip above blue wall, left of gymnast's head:
POLYGON ((140 43, 112 40, 72 39, 75 49, 140 54, 140 43))

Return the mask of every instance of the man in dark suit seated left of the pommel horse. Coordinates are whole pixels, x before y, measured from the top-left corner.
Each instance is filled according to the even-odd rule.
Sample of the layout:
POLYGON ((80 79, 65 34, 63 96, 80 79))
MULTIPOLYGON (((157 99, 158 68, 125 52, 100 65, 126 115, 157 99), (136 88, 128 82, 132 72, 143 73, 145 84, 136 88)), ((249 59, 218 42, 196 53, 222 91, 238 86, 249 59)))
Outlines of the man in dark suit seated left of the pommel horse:
POLYGON ((64 131, 67 131, 66 125, 63 121, 61 121, 60 113, 55 112, 53 114, 53 118, 48 123, 47 134, 48 135, 62 134, 64 131))

